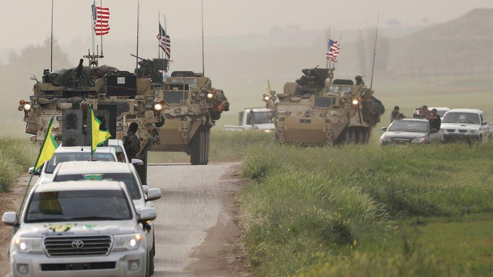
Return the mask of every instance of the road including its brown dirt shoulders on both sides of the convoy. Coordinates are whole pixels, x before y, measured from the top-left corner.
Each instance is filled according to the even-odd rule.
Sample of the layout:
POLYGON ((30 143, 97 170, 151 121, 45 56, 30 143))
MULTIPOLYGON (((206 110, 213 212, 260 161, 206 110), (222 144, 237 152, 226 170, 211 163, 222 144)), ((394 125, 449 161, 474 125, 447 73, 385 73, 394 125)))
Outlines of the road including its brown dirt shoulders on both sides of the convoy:
MULTIPOLYGON (((155 201, 156 257, 153 276, 241 276, 250 269, 241 245, 235 196, 238 164, 151 165, 149 185, 160 188, 155 201)), ((0 194, 2 212, 19 205, 26 176, 14 191, 0 194)), ((1 225, 1 224, 0 224, 1 225)), ((0 226, 0 276, 10 275, 7 248, 11 228, 0 226)))

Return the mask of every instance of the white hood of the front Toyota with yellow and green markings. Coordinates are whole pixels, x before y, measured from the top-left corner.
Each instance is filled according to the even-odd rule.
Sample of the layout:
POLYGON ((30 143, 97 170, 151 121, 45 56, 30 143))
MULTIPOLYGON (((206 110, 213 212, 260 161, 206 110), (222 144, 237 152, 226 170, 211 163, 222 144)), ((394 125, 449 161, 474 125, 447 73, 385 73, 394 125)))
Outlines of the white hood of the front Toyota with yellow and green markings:
POLYGON ((90 220, 65 221, 52 223, 24 223, 16 236, 87 236, 87 235, 123 235, 137 232, 134 220, 90 220))

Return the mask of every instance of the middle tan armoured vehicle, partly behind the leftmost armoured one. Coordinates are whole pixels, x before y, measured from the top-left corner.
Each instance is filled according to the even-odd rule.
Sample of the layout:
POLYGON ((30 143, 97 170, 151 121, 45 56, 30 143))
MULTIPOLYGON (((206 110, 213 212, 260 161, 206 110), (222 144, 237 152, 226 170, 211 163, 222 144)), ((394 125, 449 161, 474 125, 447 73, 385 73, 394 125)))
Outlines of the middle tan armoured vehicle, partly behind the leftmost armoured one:
POLYGON ((214 88, 203 73, 192 71, 174 71, 161 82, 155 72, 165 68, 146 61, 139 63, 136 72, 153 78, 153 92, 157 101, 163 101, 163 121, 166 120, 166 124, 158 126, 160 143, 153 151, 185 152, 190 155, 191 164, 207 164, 210 130, 221 113, 229 110, 224 91, 214 88))

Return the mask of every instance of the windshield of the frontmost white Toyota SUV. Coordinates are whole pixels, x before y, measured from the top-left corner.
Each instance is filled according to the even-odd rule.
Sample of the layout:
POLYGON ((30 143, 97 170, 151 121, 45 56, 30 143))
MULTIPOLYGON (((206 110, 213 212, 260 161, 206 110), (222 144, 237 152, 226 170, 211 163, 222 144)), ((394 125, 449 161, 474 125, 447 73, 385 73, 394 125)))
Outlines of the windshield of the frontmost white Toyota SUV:
POLYGON ((130 205, 122 190, 69 190, 35 192, 25 222, 131 218, 130 205))

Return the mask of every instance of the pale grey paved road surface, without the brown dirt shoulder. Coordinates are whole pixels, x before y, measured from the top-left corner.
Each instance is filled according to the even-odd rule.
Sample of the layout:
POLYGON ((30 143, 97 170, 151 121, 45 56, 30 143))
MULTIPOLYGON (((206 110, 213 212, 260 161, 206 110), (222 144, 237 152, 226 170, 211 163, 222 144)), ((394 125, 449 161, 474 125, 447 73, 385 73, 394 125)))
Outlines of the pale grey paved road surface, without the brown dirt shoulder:
MULTIPOLYGON (((230 172, 232 166, 218 164, 149 167, 149 185, 160 188, 163 194, 154 203, 158 209, 158 218, 155 221, 154 276, 194 275, 190 273, 190 265, 195 264, 196 267, 196 264, 200 264, 201 255, 197 252, 202 250, 197 249, 206 239, 208 231, 220 221, 231 220, 224 203, 224 195, 229 188, 225 184, 227 181, 221 178, 230 172)), ((195 270, 195 274, 201 273, 196 273, 195 270)))

